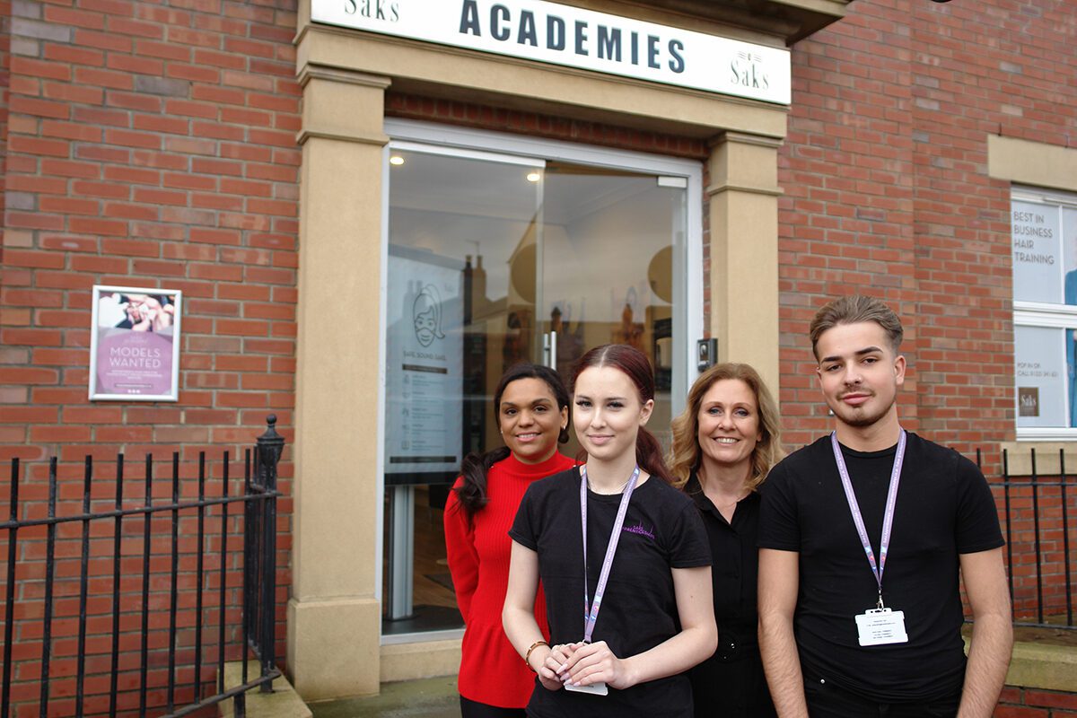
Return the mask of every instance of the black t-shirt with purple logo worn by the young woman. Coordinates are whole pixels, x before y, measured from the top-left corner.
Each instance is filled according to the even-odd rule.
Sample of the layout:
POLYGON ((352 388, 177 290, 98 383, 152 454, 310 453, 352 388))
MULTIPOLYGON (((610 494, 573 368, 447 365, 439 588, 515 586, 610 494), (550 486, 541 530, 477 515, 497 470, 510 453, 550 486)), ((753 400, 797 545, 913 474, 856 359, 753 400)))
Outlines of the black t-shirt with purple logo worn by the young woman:
MULTIPOLYGON (((550 644, 584 637, 579 480, 573 468, 531 484, 508 532, 538 553, 550 644)), ((619 505, 620 494, 587 492, 587 591, 592 601, 619 505)), ((628 658, 673 637, 681 622, 671 569, 710 564, 707 535, 691 499, 651 477, 632 493, 591 640, 605 640, 615 656, 628 658)), ((684 675, 624 691, 611 688, 605 696, 550 691, 536 679, 528 715, 690 718, 691 689, 684 675)))

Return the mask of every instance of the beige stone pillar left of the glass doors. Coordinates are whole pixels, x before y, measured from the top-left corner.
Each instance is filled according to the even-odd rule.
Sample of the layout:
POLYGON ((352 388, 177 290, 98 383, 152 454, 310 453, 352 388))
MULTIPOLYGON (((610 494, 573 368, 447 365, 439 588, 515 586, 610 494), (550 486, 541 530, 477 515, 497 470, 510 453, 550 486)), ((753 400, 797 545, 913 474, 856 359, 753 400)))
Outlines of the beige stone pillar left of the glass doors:
POLYGON ((377 692, 382 131, 389 80, 304 65, 288 666, 307 701, 377 692))

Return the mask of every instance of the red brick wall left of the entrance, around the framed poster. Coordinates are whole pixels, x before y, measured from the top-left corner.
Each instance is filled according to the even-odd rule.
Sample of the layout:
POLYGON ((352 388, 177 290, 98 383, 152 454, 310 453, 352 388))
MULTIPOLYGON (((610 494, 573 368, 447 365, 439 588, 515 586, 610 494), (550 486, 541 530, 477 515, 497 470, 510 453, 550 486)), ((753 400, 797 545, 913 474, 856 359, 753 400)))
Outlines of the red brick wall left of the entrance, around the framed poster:
MULTIPOLYGON (((270 412, 291 435, 300 161, 295 2, 14 0, 0 4, 0 512, 8 515, 13 456, 29 462, 22 485, 27 516, 44 510, 48 455, 61 459, 60 513, 80 510, 85 454, 107 476, 117 452, 140 457, 152 450, 167 465, 178 451, 180 491, 191 496, 199 450, 211 461, 225 449, 235 456, 270 412), (87 400, 94 284, 183 291, 178 403, 87 400)), ((281 487, 290 493, 286 456, 281 487)), ((137 489, 134 504, 144 501, 141 465, 132 462, 127 474, 137 489)), ((169 469, 158 467, 155 476, 162 478, 154 501, 166 502, 169 469)), ((111 502, 113 487, 96 482, 94 501, 111 502)), ((277 653, 283 656, 291 501, 279 508, 277 653)), ((192 524, 181 525, 181 578, 190 587, 192 524)), ((154 531, 165 534, 153 545, 157 652, 167 645, 159 630, 171 562, 167 525, 155 523, 154 531)), ((43 533, 25 533, 24 558, 43 555, 43 533)), ((58 550, 73 550, 62 535, 58 550)), ((124 571, 134 571, 126 561, 124 571)), ((32 619, 41 611, 42 576, 32 565, 20 575, 19 616, 30 621, 15 627, 16 699, 37 699, 40 628, 34 633, 32 619)), ((58 595, 72 590, 70 579, 57 585, 58 595)), ((181 607, 190 604, 190 593, 181 595, 181 607)), ((140 605, 135 595, 125 611, 140 605)), ((57 618, 64 620, 53 629, 53 675, 69 678, 56 685, 50 713, 73 715, 68 684, 76 621, 57 618)), ((98 621, 90 631, 107 633, 110 625, 98 621)), ((137 621, 125 625, 138 634, 137 621)), ((130 647, 126 637, 124 645, 130 647)), ((101 668, 98 651, 107 647, 93 635, 90 646, 92 664, 101 668)), ((137 667, 138 656, 131 658, 122 671, 137 667)), ((165 667, 153 658, 151 703, 162 699, 165 667)), ((137 673, 125 673, 122 690, 131 680, 137 673)), ((87 685, 98 707, 103 689, 100 680, 87 685)), ((32 713, 28 705, 18 715, 32 713)))

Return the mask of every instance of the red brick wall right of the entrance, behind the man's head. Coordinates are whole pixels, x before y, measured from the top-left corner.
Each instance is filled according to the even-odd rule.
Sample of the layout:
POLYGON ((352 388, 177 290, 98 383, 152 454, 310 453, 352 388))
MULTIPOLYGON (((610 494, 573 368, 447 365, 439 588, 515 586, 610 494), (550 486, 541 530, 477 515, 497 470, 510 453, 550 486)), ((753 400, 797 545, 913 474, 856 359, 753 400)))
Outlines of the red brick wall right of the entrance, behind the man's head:
POLYGON ((863 291, 906 322, 903 421, 966 453, 992 450, 1013 438, 1013 346, 1009 186, 987 175, 987 138, 1077 141, 1077 5, 849 11, 793 53, 780 174, 787 438, 829 424, 806 339, 813 310, 863 291))

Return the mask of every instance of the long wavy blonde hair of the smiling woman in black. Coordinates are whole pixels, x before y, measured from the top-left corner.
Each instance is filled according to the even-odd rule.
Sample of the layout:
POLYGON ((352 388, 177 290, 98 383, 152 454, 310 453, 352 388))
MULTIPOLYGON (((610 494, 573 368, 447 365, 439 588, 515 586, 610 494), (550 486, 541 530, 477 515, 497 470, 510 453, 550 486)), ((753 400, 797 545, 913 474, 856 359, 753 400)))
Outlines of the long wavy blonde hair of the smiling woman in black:
POLYGON ((749 489, 754 491, 763 483, 771 467, 784 455, 778 405, 770 390, 763 383, 759 374, 747 364, 733 362, 717 364, 699 375, 688 391, 684 411, 673 420, 673 444, 667 463, 673 475, 673 485, 677 489, 684 488, 691 471, 699 468, 702 461, 702 451, 699 448, 699 410, 703 404, 703 396, 715 382, 727 379, 736 379, 747 384, 759 408, 759 433, 763 438, 752 451, 752 474, 746 483, 749 489))

